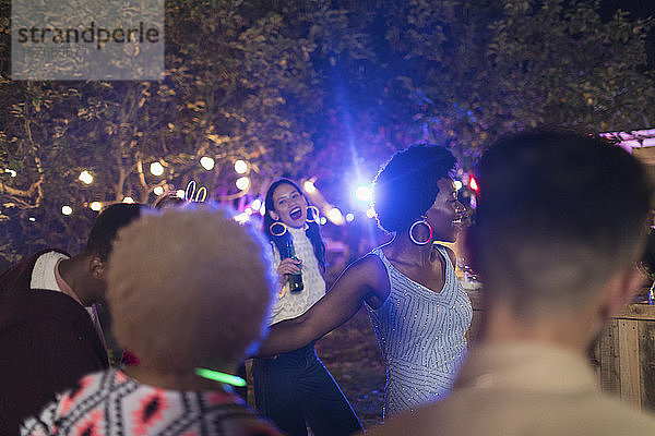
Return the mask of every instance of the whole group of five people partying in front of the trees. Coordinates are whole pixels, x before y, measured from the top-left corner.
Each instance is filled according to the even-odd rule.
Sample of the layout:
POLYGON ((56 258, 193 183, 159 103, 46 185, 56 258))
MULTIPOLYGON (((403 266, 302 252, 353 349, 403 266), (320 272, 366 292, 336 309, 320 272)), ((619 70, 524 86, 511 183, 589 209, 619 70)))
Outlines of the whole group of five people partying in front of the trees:
POLYGON ((585 360, 641 290, 653 189, 629 153, 563 131, 508 135, 483 156, 465 214, 439 145, 393 155, 373 183, 392 235, 325 289, 318 209, 288 179, 262 229, 211 203, 116 204, 85 250, 45 250, 0 276, 0 434, 341 436, 364 428, 314 342, 361 306, 386 365, 371 435, 651 435, 655 417, 603 395, 585 360), (297 281, 302 277, 302 284, 297 281), (94 304, 123 359, 110 367, 94 304), (254 404, 234 392, 252 358, 254 404))

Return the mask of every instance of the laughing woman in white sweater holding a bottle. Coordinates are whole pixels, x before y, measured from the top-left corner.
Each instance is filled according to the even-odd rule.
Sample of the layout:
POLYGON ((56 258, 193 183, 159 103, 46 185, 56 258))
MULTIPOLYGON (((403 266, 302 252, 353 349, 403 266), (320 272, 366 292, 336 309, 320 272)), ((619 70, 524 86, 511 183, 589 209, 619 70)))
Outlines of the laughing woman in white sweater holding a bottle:
MULTIPOLYGON (((325 294, 320 271, 325 265, 325 246, 315 222, 317 209, 309 206, 296 183, 275 181, 264 205, 264 232, 285 284, 273 306, 273 324, 303 314, 325 294), (294 257, 287 257, 288 244, 295 250, 294 257), (290 288, 289 277, 300 271, 303 288, 290 288)), ((306 436, 308 425, 315 436, 345 436, 360 431, 361 424, 318 359, 313 342, 285 351, 273 359, 253 361, 255 403, 261 413, 289 436, 306 436)))

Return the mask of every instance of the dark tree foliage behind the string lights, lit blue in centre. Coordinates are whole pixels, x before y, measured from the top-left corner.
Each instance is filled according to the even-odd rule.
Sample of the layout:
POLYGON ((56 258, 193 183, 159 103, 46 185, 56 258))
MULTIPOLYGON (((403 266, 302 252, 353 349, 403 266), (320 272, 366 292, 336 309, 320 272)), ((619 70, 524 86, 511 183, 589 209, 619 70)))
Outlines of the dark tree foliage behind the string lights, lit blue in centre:
POLYGON ((0 253, 11 261, 79 249, 94 201, 148 203, 155 186, 191 179, 218 199, 243 195, 237 158, 250 162, 247 195, 286 174, 336 196, 419 140, 448 144, 468 169, 508 131, 654 122, 653 22, 603 21, 597 1, 171 0, 160 82, 12 82, 9 0, 0 9, 0 169, 16 174, 0 172, 0 253))

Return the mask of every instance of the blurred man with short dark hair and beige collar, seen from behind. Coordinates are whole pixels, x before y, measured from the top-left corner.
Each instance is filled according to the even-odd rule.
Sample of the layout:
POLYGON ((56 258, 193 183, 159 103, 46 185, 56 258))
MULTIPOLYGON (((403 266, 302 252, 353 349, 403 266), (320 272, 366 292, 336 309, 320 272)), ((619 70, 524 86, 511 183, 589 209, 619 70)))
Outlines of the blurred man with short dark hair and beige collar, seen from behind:
POLYGON ((655 417, 603 395, 586 350, 640 289, 651 187, 623 149, 535 132, 483 157, 474 266, 481 342, 445 400, 380 435, 655 435, 655 417))

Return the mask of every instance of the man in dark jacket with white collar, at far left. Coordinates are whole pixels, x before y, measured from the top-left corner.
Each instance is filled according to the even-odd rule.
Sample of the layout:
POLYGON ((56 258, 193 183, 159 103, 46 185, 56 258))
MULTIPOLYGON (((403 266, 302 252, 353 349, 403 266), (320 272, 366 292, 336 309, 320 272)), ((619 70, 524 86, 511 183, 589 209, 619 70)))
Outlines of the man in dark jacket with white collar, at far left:
POLYGON ((138 204, 111 205, 82 253, 44 250, 0 276, 0 435, 17 435, 55 393, 108 366, 97 317, 84 307, 105 300, 111 242, 139 215, 138 204))

